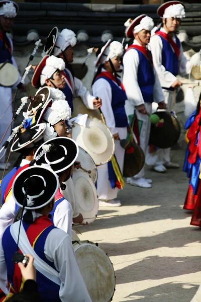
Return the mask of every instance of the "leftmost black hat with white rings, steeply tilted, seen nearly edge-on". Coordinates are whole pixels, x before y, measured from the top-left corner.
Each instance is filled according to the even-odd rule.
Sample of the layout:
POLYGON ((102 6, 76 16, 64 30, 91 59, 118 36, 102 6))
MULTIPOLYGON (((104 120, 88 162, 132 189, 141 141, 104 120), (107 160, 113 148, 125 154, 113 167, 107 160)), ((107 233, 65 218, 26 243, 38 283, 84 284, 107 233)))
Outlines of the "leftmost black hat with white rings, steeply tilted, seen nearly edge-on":
POLYGON ((22 148, 34 147, 36 142, 43 139, 45 128, 46 124, 42 123, 31 128, 23 129, 23 132, 19 133, 19 137, 11 146, 11 152, 16 152, 22 148))

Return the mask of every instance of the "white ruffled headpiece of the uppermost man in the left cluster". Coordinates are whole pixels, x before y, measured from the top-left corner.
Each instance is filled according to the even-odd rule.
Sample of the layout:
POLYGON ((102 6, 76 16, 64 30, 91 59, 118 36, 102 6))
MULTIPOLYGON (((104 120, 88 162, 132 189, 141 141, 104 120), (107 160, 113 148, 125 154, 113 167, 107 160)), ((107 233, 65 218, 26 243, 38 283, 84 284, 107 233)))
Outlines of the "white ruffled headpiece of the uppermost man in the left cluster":
POLYGON ((64 51, 70 45, 71 47, 75 46, 76 42, 75 33, 70 29, 63 29, 56 40, 54 55, 58 56, 61 51, 64 51))

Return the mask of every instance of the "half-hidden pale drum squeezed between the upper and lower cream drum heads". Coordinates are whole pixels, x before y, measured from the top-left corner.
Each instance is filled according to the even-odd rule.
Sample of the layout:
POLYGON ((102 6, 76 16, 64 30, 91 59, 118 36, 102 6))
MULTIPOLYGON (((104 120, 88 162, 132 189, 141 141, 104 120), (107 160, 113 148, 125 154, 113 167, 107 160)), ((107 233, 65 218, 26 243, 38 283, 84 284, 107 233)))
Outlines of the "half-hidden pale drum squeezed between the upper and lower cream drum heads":
POLYGON ((77 161, 80 162, 82 169, 88 171, 86 173, 88 173, 90 179, 95 184, 97 181, 97 168, 90 155, 81 147, 79 147, 77 161))

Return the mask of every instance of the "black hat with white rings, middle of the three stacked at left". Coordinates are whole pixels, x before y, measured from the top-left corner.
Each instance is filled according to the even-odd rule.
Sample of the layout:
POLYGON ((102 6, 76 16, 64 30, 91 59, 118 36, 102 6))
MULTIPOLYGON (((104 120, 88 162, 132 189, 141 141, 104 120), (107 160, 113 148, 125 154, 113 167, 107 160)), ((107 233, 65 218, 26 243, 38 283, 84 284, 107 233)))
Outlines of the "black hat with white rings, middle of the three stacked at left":
POLYGON ((73 165, 79 153, 77 143, 69 137, 55 137, 47 140, 36 151, 37 165, 48 164, 55 173, 62 172, 73 165), (39 159, 43 150, 47 152, 39 159))

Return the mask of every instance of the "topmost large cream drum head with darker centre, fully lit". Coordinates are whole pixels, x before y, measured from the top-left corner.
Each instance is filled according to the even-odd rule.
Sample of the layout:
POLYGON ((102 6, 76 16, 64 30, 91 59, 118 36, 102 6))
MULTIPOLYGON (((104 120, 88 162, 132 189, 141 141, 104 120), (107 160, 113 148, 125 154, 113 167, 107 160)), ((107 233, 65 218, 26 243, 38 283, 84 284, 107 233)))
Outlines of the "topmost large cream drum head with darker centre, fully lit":
POLYGON ((108 163, 115 153, 115 141, 109 128, 97 118, 88 117, 86 127, 74 123, 72 138, 93 159, 96 166, 108 163))

